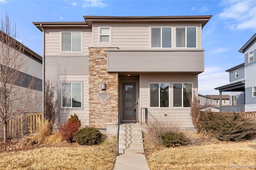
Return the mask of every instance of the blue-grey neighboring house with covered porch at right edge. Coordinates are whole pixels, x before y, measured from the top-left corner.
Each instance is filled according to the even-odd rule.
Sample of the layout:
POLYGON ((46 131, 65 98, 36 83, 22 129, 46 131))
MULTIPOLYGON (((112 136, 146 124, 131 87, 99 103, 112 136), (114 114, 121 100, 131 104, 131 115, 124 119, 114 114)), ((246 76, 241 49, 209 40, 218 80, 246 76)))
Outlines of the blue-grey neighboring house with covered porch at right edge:
POLYGON ((226 70, 230 84, 215 88, 220 97, 230 92, 230 106, 220 105, 220 111, 256 111, 256 34, 238 52, 244 53, 244 63, 226 70))

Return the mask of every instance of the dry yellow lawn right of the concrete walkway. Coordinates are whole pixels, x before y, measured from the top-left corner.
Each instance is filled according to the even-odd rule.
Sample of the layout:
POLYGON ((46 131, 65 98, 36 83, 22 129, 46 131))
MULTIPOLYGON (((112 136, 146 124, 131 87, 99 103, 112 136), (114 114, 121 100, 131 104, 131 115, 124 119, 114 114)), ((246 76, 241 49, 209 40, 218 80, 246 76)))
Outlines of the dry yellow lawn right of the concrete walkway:
POLYGON ((252 166, 256 169, 255 139, 212 143, 198 135, 190 135, 190 140, 194 142, 184 147, 166 148, 144 141, 150 170, 226 170, 231 165, 252 166))

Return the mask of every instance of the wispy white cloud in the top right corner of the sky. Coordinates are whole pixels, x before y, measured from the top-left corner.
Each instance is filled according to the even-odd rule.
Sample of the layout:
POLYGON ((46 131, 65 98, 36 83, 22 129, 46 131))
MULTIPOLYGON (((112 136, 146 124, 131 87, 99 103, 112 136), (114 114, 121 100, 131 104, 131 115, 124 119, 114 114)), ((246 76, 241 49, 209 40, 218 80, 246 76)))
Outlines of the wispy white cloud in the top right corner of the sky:
POLYGON ((256 1, 222 1, 218 17, 230 30, 256 29, 256 1))

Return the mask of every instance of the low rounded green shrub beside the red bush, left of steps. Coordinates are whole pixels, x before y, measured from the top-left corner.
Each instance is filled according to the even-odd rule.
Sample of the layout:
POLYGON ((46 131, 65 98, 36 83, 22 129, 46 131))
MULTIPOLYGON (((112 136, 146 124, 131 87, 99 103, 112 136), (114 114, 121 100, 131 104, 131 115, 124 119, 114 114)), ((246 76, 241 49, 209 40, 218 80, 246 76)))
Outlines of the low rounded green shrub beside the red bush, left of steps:
POLYGON ((95 127, 80 129, 75 135, 75 141, 80 145, 96 145, 100 142, 102 134, 95 127))

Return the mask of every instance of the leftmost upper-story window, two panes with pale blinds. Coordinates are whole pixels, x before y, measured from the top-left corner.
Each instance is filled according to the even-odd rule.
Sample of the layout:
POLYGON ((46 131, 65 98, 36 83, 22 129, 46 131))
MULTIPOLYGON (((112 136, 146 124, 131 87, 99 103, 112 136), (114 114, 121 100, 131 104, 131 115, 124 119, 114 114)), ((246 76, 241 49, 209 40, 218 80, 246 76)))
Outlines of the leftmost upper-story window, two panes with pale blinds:
POLYGON ((62 33, 62 51, 63 52, 81 52, 82 51, 82 33, 67 32, 62 33))

